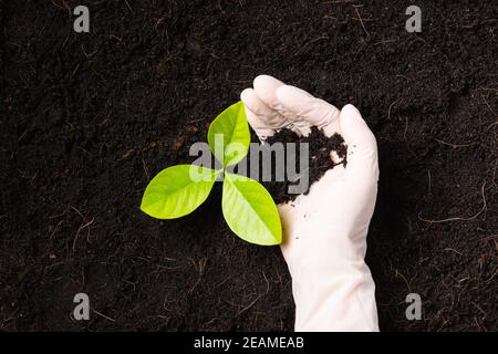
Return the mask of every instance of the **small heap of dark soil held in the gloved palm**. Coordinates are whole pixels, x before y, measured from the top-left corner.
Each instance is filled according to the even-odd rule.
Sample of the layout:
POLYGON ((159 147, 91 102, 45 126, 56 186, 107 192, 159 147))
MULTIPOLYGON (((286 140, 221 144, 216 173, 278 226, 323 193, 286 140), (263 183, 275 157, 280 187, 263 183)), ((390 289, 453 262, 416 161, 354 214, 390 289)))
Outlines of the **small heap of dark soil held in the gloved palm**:
MULTIPOLYGON (((257 137, 255 137, 255 134, 252 134, 252 140, 257 142, 257 137)), ((294 170, 299 174, 298 178, 305 178, 308 176, 309 180, 308 188, 303 191, 304 195, 310 191, 311 185, 314 181, 319 180, 329 169, 334 168, 339 164, 344 164, 344 166, 346 166, 347 164, 347 147, 344 144, 344 139, 342 138, 342 136, 339 134, 334 134, 330 138, 328 138, 323 134, 323 132, 319 131, 319 128, 315 126, 311 127, 311 133, 308 136, 299 136, 292 131, 281 129, 273 136, 267 138, 266 143, 270 146, 274 143, 295 144, 295 157, 293 158, 294 170), (308 144, 309 166, 307 170, 300 169, 300 155, 302 154, 300 149, 301 143, 308 144), (331 153, 335 153, 340 160, 334 163, 331 158, 331 153)), ((288 166, 288 164, 291 164, 292 159, 289 159, 287 154, 293 154, 293 152, 284 150, 284 164, 286 166, 288 166)), ((272 156, 272 163, 274 166, 274 156, 272 156)), ((261 158, 259 159, 259 162, 261 166, 261 158)), ((250 164, 251 162, 249 160, 248 166, 250 166, 250 164)), ((277 204, 294 200, 298 195, 289 194, 289 186, 297 184, 297 177, 286 176, 287 178, 284 181, 278 181, 274 167, 271 173, 271 180, 263 180, 262 185, 268 189, 273 200, 277 204)), ((262 178, 259 178, 259 180, 261 179, 262 178)))

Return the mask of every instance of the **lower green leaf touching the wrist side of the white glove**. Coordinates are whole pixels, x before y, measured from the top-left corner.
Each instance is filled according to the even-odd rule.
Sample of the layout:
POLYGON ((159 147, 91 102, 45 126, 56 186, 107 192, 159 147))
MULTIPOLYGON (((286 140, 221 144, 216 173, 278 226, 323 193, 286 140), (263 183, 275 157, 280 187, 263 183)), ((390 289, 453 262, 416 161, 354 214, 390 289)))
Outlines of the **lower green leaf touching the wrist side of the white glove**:
POLYGON ((262 246, 282 242, 277 206, 256 180, 225 173, 221 208, 228 226, 241 239, 262 246))

